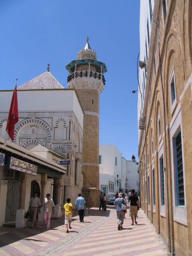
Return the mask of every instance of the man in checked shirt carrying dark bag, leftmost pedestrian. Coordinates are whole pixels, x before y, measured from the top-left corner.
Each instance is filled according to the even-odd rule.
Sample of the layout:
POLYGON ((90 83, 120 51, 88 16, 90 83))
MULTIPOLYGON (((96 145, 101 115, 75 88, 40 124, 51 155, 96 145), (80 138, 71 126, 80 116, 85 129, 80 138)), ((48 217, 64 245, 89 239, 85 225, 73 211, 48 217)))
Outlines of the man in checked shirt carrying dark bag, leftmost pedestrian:
POLYGON ((39 209, 39 213, 41 213, 40 208, 41 208, 40 199, 37 197, 37 192, 34 192, 34 197, 32 197, 29 201, 29 209, 30 209, 30 214, 32 219, 32 224, 30 228, 33 228, 34 226, 36 226, 37 211, 39 209))

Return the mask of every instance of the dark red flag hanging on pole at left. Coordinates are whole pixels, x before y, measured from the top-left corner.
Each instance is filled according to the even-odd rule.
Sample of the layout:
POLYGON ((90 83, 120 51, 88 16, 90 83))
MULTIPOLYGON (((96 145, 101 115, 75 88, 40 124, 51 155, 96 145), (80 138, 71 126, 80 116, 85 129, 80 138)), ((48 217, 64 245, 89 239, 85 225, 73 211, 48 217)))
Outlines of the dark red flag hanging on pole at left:
POLYGON ((19 120, 19 115, 18 115, 17 79, 16 79, 16 84, 15 84, 15 88, 13 91, 13 96, 12 96, 12 100, 11 100, 11 105, 10 105, 10 110, 9 110, 9 115, 8 115, 8 120, 7 120, 7 126, 6 126, 6 131, 9 134, 12 141, 14 140, 15 124, 18 122, 18 120, 19 120))

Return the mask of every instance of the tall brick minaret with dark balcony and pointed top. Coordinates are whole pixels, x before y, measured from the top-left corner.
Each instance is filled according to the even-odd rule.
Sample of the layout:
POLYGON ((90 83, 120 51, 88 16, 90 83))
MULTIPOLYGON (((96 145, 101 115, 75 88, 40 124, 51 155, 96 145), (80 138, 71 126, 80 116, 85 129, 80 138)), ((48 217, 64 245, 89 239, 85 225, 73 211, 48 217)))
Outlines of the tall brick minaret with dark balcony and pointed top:
POLYGON ((69 71, 68 88, 75 88, 84 110, 82 146, 82 194, 90 206, 98 203, 99 190, 99 96, 104 90, 107 72, 104 63, 96 60, 96 52, 86 39, 78 60, 66 66, 69 71), (93 189, 94 188, 94 189, 93 189), (91 198, 91 199, 90 199, 91 198))

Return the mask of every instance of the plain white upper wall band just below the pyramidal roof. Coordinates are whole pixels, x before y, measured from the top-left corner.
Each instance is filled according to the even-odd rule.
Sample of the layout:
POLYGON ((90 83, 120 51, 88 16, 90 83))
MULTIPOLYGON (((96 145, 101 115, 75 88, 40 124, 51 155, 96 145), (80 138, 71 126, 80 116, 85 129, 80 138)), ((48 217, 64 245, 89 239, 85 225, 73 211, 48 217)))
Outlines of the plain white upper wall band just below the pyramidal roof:
MULTIPOLYGON (((12 94, 12 91, 0 92, 0 112, 8 113, 12 94)), ((17 96, 19 112, 74 111, 81 128, 83 128, 84 113, 78 102, 75 90, 18 91, 17 96), (50 102, 51 104, 49 104, 50 102)))

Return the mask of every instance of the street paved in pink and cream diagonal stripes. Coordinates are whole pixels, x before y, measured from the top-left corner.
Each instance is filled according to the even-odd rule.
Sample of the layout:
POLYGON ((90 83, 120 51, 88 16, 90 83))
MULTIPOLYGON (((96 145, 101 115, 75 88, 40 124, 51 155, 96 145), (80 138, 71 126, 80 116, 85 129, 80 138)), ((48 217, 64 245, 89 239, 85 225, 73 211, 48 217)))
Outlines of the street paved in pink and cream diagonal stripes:
MULTIPOLYGON (((64 218, 51 220, 51 229, 45 230, 43 223, 34 229, 0 228, 1 256, 115 256, 115 255, 169 255, 160 235, 142 210, 138 211, 138 224, 131 226, 128 214, 124 229, 117 230, 116 210, 90 209, 90 216, 79 222, 72 219, 72 229, 67 234, 64 218)), ((30 222, 27 222, 30 225, 30 222)))

